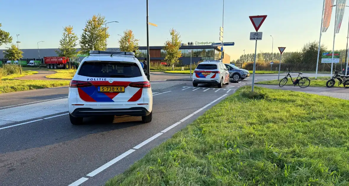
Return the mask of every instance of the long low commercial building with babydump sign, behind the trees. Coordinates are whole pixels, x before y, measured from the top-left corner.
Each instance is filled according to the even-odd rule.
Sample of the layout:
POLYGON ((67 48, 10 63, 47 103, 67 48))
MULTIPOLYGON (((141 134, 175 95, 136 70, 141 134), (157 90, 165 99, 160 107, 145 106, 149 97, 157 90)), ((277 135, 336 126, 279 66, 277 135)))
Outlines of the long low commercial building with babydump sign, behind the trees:
MULTIPOLYGON (((55 51, 57 51, 58 48, 43 48, 43 49, 21 49, 23 52, 23 59, 42 59, 44 56, 57 56, 55 51), (40 55, 40 57, 39 57, 40 55)), ((119 48, 108 48, 108 51, 119 51, 119 48)), ((221 47, 211 47, 211 45, 183 45, 180 46, 179 50, 182 52, 182 56, 179 58, 179 64, 180 65, 188 65, 190 64, 190 59, 192 60, 192 63, 198 63, 203 60, 218 60, 221 58, 221 47), (188 52, 188 50, 192 51, 192 54, 188 52), (191 57, 192 56, 192 57, 191 57)), ((2 49, 0 49, 0 61, 4 61, 2 59, 1 53, 2 49)), ((80 48, 77 49, 77 51, 80 51, 80 48)), ((137 59, 140 61, 143 61, 144 58, 147 57, 147 47, 141 46, 139 47, 139 52, 136 54, 137 59)), ((230 56, 226 53, 224 53, 223 50, 223 63, 229 63, 230 62, 230 56)), ((166 62, 165 56, 166 52, 163 50, 163 46, 150 46, 149 47, 149 55, 150 55, 150 62, 154 63, 161 63, 166 62)), ((85 57, 86 55, 79 55, 80 61, 85 57)), ((7 59, 5 59, 7 61, 7 59)), ((29 61, 28 61, 29 62, 29 61)))

